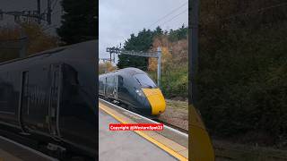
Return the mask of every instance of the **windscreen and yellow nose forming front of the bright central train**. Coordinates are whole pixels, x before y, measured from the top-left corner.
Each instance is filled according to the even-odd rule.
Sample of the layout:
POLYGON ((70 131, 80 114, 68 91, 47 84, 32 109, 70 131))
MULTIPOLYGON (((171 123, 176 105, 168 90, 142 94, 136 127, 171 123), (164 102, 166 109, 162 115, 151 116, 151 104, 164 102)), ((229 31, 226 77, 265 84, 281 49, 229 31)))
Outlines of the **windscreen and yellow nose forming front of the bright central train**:
POLYGON ((149 110, 151 115, 159 115, 165 111, 165 99, 151 78, 145 73, 138 73, 133 76, 141 89, 136 89, 135 92, 139 97, 145 97, 143 104, 145 109, 149 110))

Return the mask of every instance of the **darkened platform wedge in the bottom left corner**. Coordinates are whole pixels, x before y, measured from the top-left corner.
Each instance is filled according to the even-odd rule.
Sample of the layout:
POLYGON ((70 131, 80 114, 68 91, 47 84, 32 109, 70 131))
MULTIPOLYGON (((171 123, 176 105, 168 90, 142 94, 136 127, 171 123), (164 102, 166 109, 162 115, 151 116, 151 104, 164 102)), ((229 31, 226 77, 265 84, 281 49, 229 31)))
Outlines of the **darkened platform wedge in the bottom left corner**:
POLYGON ((0 136, 0 161, 56 161, 53 157, 0 136))

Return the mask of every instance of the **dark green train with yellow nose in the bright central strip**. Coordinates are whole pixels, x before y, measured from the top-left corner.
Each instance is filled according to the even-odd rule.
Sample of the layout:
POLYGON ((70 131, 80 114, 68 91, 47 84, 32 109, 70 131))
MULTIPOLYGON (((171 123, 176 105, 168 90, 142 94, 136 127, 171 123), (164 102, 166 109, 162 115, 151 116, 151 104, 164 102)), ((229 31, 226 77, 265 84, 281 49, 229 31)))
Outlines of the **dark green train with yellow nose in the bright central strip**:
POLYGON ((100 74, 99 97, 152 118, 166 109, 161 89, 146 72, 134 67, 100 74))

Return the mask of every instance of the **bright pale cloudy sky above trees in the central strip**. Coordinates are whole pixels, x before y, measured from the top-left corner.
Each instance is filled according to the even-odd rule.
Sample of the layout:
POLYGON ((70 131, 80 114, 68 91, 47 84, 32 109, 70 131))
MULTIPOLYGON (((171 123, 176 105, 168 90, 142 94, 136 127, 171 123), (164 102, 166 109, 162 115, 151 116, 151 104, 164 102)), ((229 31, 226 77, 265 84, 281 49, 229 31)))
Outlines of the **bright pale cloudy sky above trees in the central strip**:
POLYGON ((123 45, 132 33, 137 34, 143 28, 154 30, 157 26, 161 26, 162 30, 175 30, 182 24, 187 26, 187 2, 187 0, 100 0, 99 57, 109 57, 106 47, 117 47, 119 43, 123 45), (170 13, 168 16, 161 19, 168 13, 170 13), (152 25, 154 22, 156 23, 152 25))

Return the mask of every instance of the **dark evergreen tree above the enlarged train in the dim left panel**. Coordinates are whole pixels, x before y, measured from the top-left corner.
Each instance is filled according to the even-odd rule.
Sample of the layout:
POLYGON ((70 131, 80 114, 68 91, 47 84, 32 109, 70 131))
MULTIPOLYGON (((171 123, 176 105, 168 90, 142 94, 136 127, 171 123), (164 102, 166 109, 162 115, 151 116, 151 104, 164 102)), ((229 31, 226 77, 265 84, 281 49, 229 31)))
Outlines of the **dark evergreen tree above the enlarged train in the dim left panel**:
POLYGON ((98 4, 95 0, 63 0, 65 14, 57 34, 66 44, 96 39, 98 33, 98 4))

